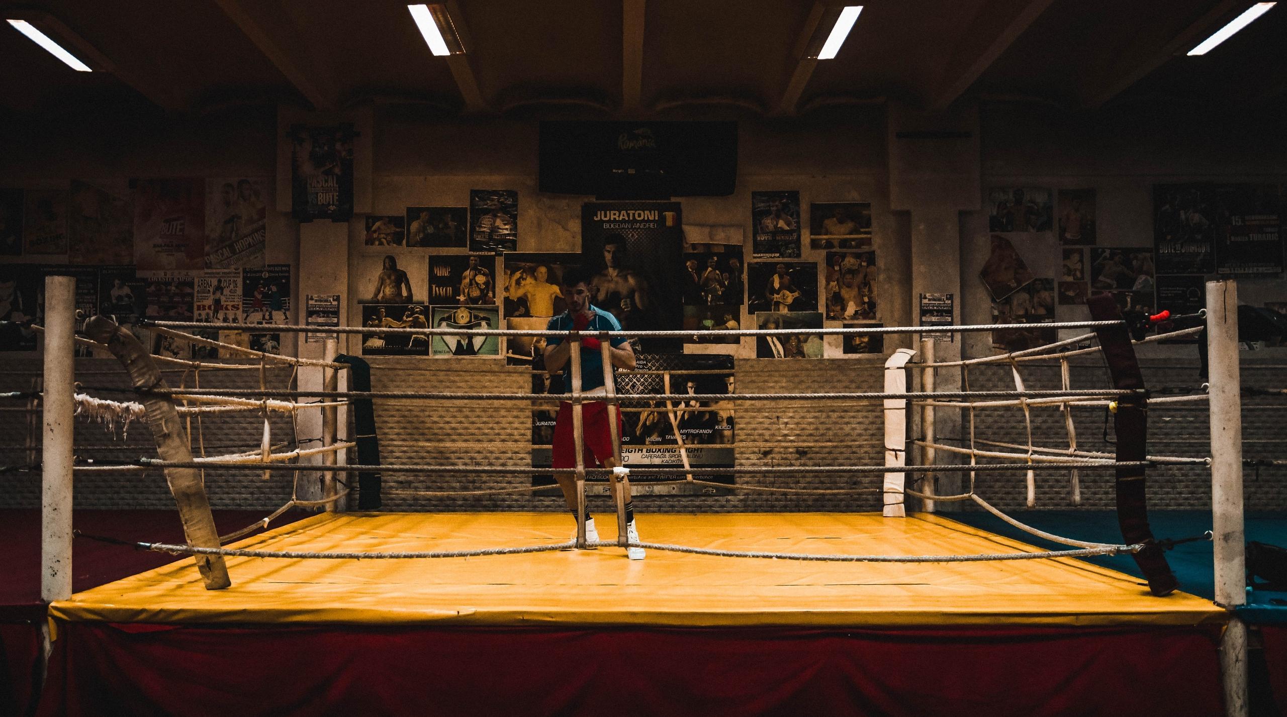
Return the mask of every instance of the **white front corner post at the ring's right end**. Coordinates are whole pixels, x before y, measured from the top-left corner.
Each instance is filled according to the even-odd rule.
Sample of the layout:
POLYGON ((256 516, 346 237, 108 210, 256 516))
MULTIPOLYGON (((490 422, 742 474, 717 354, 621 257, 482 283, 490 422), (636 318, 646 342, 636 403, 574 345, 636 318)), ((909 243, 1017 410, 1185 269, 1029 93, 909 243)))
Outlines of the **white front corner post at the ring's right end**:
MULTIPOLYGON (((1247 602, 1238 284, 1232 279, 1207 282, 1206 309, 1215 601, 1232 609, 1247 602)), ((1225 714, 1247 714, 1247 626, 1237 617, 1230 617, 1229 626, 1220 637, 1220 672, 1225 714)))

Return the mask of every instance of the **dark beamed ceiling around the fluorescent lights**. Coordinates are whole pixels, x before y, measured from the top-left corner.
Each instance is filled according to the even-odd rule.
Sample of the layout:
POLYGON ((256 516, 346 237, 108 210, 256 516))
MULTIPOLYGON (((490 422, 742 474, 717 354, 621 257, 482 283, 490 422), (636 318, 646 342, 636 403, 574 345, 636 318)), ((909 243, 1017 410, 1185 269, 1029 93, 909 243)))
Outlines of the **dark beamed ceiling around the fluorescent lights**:
MULTIPOLYGON (((831 61, 802 61, 812 0, 458 0, 466 54, 432 57, 405 3, 41 0, 113 64, 73 72, 0 26, 0 106, 21 116, 203 113, 229 104, 561 107, 589 117, 731 108, 801 116, 963 97, 1094 111, 1176 102, 1254 112, 1287 94, 1287 6, 1206 57, 1251 0, 871 0, 831 61)), ((825 21, 824 21, 825 22, 825 21)))

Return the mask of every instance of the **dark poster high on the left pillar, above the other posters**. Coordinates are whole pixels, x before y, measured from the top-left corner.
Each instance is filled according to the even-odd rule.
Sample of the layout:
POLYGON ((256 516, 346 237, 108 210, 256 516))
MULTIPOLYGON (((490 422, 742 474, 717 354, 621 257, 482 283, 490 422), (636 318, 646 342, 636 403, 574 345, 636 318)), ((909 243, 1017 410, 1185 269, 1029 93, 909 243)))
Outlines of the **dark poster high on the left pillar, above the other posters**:
POLYGON ((291 212, 300 221, 353 218, 353 124, 291 125, 291 212))

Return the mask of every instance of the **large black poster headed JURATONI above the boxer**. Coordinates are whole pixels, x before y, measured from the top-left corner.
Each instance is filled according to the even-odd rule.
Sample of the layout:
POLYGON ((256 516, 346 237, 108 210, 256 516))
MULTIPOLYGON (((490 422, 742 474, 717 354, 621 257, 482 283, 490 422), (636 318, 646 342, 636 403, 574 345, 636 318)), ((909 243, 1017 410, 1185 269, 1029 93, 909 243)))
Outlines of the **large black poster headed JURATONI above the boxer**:
MULTIPOLYGON (((627 331, 683 326, 683 229, 680 202, 586 202, 580 207, 582 266, 592 274, 595 306, 627 331)), ((678 339, 641 339, 636 350, 681 353, 678 339)))

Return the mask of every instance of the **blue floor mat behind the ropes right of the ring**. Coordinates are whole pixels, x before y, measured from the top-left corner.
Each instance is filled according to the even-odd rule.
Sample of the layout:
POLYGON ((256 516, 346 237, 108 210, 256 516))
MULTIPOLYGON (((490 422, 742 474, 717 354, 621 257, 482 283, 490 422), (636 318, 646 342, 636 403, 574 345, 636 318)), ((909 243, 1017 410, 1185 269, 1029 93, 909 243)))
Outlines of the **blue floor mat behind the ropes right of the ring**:
MULTIPOLYGON (((1045 550, 1067 550, 1067 546, 1030 535, 987 512, 943 512, 941 515, 1045 550)), ((1041 510, 1017 511, 1010 515, 1021 523, 1055 535, 1102 543, 1120 543, 1122 539, 1115 512, 1041 510)), ((1153 534, 1158 538, 1188 538, 1211 529, 1211 514, 1207 511, 1152 511, 1148 520, 1153 534)), ((1287 514, 1248 512, 1245 521, 1247 541, 1287 547, 1287 514)), ((1208 600, 1215 597, 1215 570, 1210 541, 1176 546, 1175 550, 1166 554, 1166 559, 1171 564, 1175 577, 1180 581, 1180 590, 1208 600)), ((1144 584, 1139 568, 1129 555, 1108 555, 1088 557, 1086 560, 1139 577, 1140 584, 1144 584)), ((1287 624, 1287 593, 1261 590, 1252 591, 1247 599, 1247 606, 1239 610, 1239 615, 1247 622, 1287 624)))

